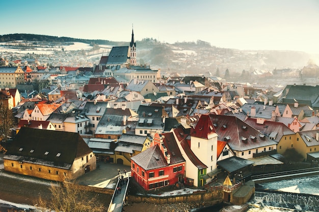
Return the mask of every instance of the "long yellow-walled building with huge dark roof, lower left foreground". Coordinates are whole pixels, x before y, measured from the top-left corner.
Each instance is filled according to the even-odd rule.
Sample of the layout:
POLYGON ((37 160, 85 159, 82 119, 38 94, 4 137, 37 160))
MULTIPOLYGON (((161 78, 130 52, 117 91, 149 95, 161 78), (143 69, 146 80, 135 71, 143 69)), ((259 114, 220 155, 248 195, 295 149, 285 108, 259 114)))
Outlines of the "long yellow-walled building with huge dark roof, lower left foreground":
POLYGON ((96 169, 92 150, 78 133, 21 128, 7 147, 6 171, 64 181, 96 169))

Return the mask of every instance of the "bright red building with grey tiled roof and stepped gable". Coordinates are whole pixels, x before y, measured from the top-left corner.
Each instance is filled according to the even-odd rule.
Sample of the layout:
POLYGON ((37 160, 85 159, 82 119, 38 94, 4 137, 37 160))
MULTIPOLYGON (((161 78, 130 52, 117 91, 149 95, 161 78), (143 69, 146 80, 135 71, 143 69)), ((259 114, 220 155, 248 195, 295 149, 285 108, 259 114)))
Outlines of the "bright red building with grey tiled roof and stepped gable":
POLYGON ((155 133, 151 147, 131 157, 131 176, 145 190, 183 182, 184 174, 185 160, 173 133, 155 133))

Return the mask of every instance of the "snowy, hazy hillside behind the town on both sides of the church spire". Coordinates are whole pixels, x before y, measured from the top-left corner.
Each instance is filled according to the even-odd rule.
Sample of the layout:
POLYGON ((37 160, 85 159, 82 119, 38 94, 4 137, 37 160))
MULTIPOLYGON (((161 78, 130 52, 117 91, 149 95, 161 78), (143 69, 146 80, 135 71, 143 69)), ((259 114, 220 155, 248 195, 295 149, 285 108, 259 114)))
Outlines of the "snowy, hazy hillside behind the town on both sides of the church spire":
MULTIPOLYGON (((40 60, 39 55, 41 54, 49 54, 51 58, 62 55, 64 59, 55 59, 55 62, 52 63, 57 61, 59 63, 51 64, 54 66, 93 66, 99 62, 101 55, 108 55, 112 46, 129 45, 129 42, 32 34, 2 35, 0 42, 2 42, 0 47, 3 47, 0 48, 0 51, 11 49, 11 52, 15 52, 9 55, 1 53, 1 57, 14 59, 32 57, 40 60), (75 45, 79 43, 83 45, 75 45), (76 58, 75 61, 73 57, 76 58)), ((136 43, 138 63, 151 65, 153 69, 160 68, 162 74, 165 72, 196 75, 219 74, 220 77, 224 77, 226 69, 233 76, 242 74, 243 70, 251 73, 254 70, 302 69, 311 58, 305 52, 228 49, 216 47, 201 40, 169 44, 152 38, 144 38, 136 43)))

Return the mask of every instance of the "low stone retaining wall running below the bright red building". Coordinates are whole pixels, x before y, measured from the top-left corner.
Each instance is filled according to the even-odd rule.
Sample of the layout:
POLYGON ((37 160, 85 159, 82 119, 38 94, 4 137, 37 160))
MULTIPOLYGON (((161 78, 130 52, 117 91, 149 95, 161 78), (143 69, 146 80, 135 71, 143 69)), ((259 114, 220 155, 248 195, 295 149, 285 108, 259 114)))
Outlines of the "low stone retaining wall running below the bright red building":
POLYGON ((222 201, 223 191, 215 190, 211 192, 198 191, 193 194, 179 195, 179 196, 138 196, 138 195, 128 195, 126 196, 126 201, 128 202, 147 202, 154 204, 170 204, 175 202, 204 202, 204 201, 222 201))

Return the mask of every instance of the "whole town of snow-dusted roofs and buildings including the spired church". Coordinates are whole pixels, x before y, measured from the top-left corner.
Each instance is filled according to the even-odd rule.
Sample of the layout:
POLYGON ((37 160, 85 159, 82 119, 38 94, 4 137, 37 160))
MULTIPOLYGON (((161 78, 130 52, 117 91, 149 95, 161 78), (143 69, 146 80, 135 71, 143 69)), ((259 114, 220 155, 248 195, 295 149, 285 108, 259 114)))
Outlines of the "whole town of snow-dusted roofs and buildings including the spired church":
POLYGON ((137 65, 133 32, 129 46, 113 47, 93 68, 51 71, 0 67, 0 99, 18 123, 5 170, 62 181, 97 161, 118 163, 152 190, 203 187, 225 173, 249 178, 253 166, 282 164, 291 148, 306 162, 319 158, 318 85, 163 79, 137 65), (31 96, 19 89, 29 80, 47 84, 31 96))

